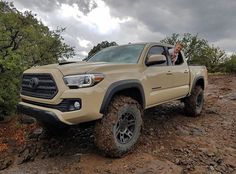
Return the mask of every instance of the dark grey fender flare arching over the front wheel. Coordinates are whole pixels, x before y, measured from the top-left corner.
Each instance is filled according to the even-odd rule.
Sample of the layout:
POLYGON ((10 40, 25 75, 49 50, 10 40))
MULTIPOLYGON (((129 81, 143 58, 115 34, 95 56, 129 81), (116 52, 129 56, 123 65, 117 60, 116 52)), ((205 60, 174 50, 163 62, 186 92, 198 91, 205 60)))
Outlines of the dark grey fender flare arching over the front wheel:
POLYGON ((144 90, 143 90, 143 86, 141 84, 141 82, 139 80, 136 79, 131 79, 131 80, 121 80, 121 81, 117 81, 112 83, 107 91, 106 94, 103 98, 103 102, 100 108, 100 113, 104 114, 105 110, 108 106, 108 104, 111 102, 112 97, 119 91, 122 91, 124 89, 129 89, 129 88, 136 88, 139 90, 140 94, 141 94, 141 99, 142 99, 142 107, 145 108, 146 105, 146 101, 145 101, 145 94, 144 94, 144 90))

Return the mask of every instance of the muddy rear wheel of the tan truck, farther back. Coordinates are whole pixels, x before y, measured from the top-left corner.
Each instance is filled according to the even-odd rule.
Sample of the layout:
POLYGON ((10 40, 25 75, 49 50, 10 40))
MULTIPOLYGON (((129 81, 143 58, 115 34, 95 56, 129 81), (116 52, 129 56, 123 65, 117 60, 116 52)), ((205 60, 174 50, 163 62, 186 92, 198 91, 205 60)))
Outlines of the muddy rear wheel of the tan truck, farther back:
POLYGON ((196 86, 192 94, 184 99, 184 110, 187 116, 196 117, 201 114, 204 103, 204 91, 196 86))

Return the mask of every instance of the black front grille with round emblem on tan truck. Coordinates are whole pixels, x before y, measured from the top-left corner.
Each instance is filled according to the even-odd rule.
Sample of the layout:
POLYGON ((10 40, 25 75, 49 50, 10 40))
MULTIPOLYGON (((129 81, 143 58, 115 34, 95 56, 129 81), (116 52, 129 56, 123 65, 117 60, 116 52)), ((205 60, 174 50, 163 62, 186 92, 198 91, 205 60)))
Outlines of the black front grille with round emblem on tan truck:
POLYGON ((57 86, 51 74, 23 74, 22 95, 52 99, 57 92, 57 86))

